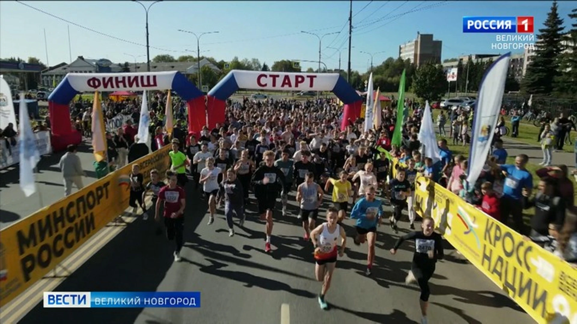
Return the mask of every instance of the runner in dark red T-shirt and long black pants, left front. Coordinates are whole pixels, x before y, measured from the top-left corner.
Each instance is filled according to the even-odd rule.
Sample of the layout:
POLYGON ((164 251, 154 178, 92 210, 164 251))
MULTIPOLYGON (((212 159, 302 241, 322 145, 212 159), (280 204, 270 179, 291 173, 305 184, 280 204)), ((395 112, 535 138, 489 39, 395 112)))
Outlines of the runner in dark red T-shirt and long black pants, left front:
POLYGON ((172 171, 166 171, 166 178, 168 179, 168 186, 162 187, 158 193, 154 218, 159 221, 160 205, 164 203, 163 215, 166 237, 168 240, 175 241, 174 261, 179 262, 181 261, 180 251, 183 244, 185 192, 182 187, 177 186, 177 174, 172 171))

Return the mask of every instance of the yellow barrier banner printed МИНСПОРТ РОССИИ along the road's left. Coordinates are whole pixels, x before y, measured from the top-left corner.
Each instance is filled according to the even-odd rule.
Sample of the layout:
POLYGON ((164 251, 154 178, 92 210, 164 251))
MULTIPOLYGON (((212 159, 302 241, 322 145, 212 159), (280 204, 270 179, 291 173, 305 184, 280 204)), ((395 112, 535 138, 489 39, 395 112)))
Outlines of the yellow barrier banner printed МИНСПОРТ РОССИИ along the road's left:
MULTIPOLYGON (((166 146, 134 163, 145 182, 170 165, 166 146)), ((128 208, 132 164, 108 174, 0 232, 0 307, 54 269, 128 208)))

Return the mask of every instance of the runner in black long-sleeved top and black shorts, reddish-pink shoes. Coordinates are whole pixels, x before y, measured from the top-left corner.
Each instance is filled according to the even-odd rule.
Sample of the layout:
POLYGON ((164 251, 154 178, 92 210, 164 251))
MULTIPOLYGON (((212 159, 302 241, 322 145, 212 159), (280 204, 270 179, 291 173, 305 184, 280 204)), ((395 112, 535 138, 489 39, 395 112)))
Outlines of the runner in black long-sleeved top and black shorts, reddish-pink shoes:
POLYGON ((261 165, 252 176, 251 183, 254 186, 254 195, 258 201, 258 213, 261 220, 267 220, 267 242, 264 244, 265 252, 271 251, 272 234, 272 210, 275 208, 276 198, 282 187, 285 186, 284 174, 275 167, 275 152, 268 150, 263 153, 264 164, 261 165))

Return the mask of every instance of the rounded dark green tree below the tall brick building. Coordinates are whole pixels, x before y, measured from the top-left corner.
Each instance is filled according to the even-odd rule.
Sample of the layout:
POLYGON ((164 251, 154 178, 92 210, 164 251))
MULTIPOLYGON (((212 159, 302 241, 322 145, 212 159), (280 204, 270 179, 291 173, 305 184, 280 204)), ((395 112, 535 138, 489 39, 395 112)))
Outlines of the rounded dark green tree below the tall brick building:
POLYGON ((439 101, 445 94, 447 76, 442 65, 425 63, 415 71, 412 92, 424 100, 439 101))

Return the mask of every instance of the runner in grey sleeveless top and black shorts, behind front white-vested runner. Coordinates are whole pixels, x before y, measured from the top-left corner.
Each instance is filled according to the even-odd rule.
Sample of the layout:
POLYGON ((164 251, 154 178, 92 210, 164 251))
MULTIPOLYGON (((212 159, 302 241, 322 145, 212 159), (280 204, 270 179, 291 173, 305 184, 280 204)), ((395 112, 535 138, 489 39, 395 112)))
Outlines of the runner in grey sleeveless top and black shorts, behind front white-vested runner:
POLYGON ((301 206, 302 228, 305 230, 304 239, 309 240, 309 234, 314 229, 314 223, 319 216, 319 207, 323 202, 323 189, 314 182, 313 172, 308 172, 305 182, 297 187, 297 202, 301 206))

